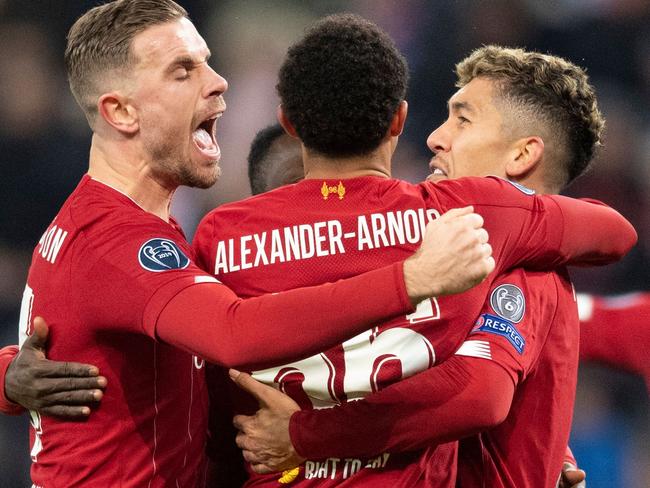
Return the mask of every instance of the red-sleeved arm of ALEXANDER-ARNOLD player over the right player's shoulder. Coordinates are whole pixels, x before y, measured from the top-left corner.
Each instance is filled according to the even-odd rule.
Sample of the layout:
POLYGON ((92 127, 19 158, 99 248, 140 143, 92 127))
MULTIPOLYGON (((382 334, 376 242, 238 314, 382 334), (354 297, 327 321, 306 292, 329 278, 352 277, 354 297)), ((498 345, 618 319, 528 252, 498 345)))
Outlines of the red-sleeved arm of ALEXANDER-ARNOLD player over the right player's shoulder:
POLYGON ((614 262, 636 244, 632 225, 595 200, 534 195, 497 177, 425 186, 430 205, 474 205, 485 219, 498 272, 516 266, 552 270, 565 264, 614 262))

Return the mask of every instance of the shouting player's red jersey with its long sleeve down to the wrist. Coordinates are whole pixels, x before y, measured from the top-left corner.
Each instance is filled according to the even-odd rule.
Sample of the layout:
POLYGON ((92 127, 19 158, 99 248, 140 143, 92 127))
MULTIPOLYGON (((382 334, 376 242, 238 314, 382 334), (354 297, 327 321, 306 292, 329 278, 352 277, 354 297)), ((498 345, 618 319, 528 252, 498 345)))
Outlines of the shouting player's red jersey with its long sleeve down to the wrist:
POLYGON ((293 360, 304 344, 297 324, 311 324, 317 350, 314 343, 336 344, 413 310, 401 262, 242 300, 191 256, 174 222, 88 176, 45 231, 23 296, 21 340, 43 316, 48 357, 94 364, 108 386, 87 420, 32 414, 36 486, 200 486, 207 394, 198 356, 230 366, 293 360), (327 313, 334 305, 340 310, 327 313))

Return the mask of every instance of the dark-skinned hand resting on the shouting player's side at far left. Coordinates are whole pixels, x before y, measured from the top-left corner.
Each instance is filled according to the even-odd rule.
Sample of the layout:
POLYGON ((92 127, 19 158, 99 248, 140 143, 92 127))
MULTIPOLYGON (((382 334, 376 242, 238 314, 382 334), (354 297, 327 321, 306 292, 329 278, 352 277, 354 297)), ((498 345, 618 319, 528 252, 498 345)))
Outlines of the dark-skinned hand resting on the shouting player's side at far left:
POLYGON ((5 375, 9 400, 42 415, 87 417, 102 399, 106 378, 89 364, 49 361, 45 357, 48 328, 34 319, 34 333, 11 361, 5 375))

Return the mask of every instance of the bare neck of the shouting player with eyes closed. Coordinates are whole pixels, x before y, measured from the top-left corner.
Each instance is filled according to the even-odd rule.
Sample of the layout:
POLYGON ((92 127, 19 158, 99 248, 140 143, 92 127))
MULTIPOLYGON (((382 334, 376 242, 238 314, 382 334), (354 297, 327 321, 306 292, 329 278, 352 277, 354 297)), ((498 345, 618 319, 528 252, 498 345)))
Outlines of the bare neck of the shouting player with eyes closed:
POLYGON ((105 141, 93 134, 88 174, 124 193, 144 211, 169 222, 169 208, 176 186, 154 177, 142 152, 127 143, 105 141))

